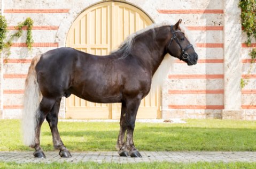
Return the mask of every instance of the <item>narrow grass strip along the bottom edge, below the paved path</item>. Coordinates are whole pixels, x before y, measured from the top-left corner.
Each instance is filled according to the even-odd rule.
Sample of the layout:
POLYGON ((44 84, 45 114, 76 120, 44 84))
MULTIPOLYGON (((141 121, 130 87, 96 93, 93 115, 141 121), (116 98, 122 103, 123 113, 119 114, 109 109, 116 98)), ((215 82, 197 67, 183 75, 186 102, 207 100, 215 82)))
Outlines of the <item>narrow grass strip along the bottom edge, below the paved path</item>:
POLYGON ((44 169, 44 168, 191 168, 191 169, 200 169, 200 168, 256 168, 256 163, 208 163, 208 162, 198 162, 198 163, 169 163, 169 162, 154 162, 154 163, 129 163, 129 164, 118 164, 118 163, 94 163, 94 162, 87 162, 87 163, 50 163, 50 164, 34 164, 34 163, 25 163, 25 164, 17 164, 17 163, 1 163, 0 168, 6 169, 17 169, 17 168, 26 168, 26 169, 44 169))

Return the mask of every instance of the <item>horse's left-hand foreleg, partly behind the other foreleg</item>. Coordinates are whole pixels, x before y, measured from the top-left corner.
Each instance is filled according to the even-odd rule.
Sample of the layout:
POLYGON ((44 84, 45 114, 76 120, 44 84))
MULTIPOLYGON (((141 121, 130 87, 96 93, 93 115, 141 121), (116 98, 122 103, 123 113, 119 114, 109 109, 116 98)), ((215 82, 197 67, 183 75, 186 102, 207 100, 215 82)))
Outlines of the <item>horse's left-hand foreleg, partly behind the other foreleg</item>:
POLYGON ((120 117, 120 130, 118 135, 118 141, 117 141, 117 149, 118 154, 120 156, 128 156, 129 153, 125 148, 125 133, 127 130, 127 123, 126 123, 126 104, 122 103, 121 108, 121 117, 120 117))

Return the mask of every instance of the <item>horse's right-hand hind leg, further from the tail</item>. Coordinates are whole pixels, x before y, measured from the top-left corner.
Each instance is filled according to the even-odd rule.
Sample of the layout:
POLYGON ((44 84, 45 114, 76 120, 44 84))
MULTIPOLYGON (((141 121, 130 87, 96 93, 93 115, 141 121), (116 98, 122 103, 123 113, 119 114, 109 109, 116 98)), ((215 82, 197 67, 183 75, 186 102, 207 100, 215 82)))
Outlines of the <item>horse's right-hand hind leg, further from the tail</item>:
POLYGON ((59 149, 60 157, 71 157, 71 154, 64 146, 64 143, 60 139, 59 131, 58 131, 58 114, 59 114, 59 106, 60 106, 61 98, 58 99, 55 105, 52 107, 50 113, 46 116, 46 120, 49 123, 51 133, 52 133, 52 140, 55 149, 59 149))

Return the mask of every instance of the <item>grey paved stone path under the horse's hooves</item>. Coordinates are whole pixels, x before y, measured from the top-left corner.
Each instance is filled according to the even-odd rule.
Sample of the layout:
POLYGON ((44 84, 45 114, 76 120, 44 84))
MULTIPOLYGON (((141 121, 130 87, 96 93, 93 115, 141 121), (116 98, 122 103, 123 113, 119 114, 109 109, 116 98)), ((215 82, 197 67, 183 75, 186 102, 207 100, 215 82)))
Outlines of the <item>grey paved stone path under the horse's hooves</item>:
POLYGON ((58 151, 45 151, 46 158, 34 158, 33 152, 0 151, 0 161, 17 163, 51 162, 256 162, 256 152, 212 152, 212 151, 141 151, 141 158, 120 157, 117 151, 72 153, 71 158, 60 158, 58 151))

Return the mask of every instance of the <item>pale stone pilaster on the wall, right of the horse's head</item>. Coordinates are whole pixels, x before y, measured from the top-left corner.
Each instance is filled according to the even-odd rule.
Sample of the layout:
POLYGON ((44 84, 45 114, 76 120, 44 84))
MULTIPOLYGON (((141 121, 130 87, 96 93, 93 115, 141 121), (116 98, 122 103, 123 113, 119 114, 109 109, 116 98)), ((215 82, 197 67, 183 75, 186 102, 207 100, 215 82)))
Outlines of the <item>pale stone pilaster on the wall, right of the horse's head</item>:
POLYGON ((224 109, 223 119, 243 119, 241 109, 241 9, 239 0, 224 0, 224 109))

